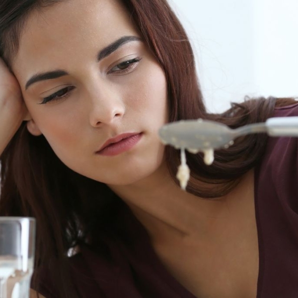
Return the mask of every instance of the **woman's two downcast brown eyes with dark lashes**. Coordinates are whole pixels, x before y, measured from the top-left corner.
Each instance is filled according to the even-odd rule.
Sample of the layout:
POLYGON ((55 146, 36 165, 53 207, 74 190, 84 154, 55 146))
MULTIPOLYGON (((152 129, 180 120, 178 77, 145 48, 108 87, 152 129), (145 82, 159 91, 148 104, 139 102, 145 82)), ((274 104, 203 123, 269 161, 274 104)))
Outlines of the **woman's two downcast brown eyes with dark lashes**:
MULTIPOLYGON (((108 74, 115 74, 115 75, 123 75, 123 74, 128 74, 131 70, 133 70, 135 68, 135 66, 137 65, 137 63, 139 63, 141 61, 142 58, 134 58, 134 59, 130 59, 124 62, 121 62, 119 64, 117 64, 116 66, 114 66, 109 72, 108 74), (120 69, 119 67, 122 66, 127 66, 125 69, 120 69), (115 70, 116 68, 118 68, 119 70, 115 70)), ((50 101, 60 101, 63 100, 65 98, 67 98, 69 95, 71 95, 71 91, 74 89, 74 86, 67 86, 63 89, 60 89, 59 91, 47 96, 43 98, 43 101, 39 104, 46 104, 50 101), (60 95, 61 94, 61 95, 60 95)))

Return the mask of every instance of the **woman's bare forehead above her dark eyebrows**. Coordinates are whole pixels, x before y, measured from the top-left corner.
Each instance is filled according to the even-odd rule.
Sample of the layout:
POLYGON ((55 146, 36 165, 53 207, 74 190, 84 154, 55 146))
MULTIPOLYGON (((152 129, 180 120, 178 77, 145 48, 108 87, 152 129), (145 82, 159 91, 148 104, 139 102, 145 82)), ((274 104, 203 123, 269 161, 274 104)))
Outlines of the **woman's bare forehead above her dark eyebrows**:
POLYGON ((123 35, 136 34, 119 0, 63 0, 30 14, 12 69, 18 77, 24 71, 53 68, 53 62, 67 67, 74 58, 95 59, 95 51, 123 35))

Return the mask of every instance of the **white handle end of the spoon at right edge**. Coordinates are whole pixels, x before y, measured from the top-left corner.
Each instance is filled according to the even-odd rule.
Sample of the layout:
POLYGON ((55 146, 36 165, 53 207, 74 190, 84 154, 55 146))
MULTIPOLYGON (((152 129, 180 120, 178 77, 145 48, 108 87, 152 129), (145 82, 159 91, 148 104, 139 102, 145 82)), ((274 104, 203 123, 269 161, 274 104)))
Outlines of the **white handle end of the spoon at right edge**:
POLYGON ((298 117, 273 117, 266 121, 267 134, 272 137, 298 137, 298 117))

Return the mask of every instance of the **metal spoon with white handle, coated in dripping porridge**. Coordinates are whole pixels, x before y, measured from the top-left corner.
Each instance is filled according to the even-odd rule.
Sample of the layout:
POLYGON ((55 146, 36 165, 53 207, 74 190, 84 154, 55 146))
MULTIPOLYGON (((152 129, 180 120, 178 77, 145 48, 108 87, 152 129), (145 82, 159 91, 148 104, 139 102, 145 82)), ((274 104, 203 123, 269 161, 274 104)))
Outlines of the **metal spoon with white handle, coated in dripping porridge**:
POLYGON ((191 153, 228 148, 233 140, 248 134, 267 133, 271 137, 298 137, 298 117, 274 117, 266 122, 230 129, 209 120, 181 120, 162 126, 159 137, 165 145, 187 149, 191 153))

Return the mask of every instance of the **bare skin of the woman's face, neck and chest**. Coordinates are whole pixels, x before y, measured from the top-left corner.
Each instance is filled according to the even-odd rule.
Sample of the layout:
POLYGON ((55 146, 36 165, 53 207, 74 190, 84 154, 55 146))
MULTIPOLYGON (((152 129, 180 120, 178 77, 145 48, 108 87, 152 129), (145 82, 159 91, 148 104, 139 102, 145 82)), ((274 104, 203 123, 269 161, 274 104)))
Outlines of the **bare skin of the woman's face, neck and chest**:
POLYGON ((157 137, 168 114, 163 70, 140 41, 96 60, 101 49, 123 36, 140 34, 118 1, 69 0, 34 11, 12 62, 29 111, 28 130, 43 134, 74 171, 108 184, 148 230, 164 266, 193 294, 255 297, 253 171, 217 201, 200 200, 173 183, 157 137), (130 71, 115 71, 134 58, 141 60, 130 71), (68 75, 26 89, 34 74, 57 69, 68 75), (67 86, 74 88, 66 98, 40 104, 67 86), (126 132, 142 133, 142 139, 116 156, 95 154, 109 138, 126 132))

